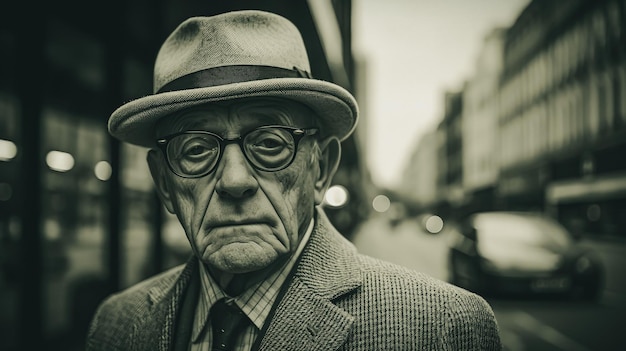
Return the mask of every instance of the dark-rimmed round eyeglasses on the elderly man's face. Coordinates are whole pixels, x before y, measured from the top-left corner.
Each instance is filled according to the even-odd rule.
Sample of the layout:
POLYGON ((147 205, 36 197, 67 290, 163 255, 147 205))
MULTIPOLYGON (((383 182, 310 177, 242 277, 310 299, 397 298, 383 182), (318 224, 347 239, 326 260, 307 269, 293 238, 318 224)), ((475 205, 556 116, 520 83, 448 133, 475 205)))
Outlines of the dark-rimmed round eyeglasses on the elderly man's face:
POLYGON ((225 139, 207 131, 184 131, 157 140, 172 172, 183 178, 200 178, 213 172, 228 144, 238 144, 256 169, 276 172, 295 159, 300 140, 318 132, 314 128, 263 126, 237 138, 225 139))

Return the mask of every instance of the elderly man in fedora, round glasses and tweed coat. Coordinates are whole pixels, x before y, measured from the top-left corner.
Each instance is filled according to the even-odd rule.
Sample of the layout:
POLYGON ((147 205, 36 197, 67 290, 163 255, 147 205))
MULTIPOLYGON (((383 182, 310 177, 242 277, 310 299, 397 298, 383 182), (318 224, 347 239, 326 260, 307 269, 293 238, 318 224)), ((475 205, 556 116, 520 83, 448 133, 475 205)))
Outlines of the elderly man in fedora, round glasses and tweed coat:
POLYGON ((357 104, 309 74, 298 30, 237 11, 183 22, 154 94, 109 130, 150 148, 194 255, 106 299, 89 350, 496 350, 489 305, 360 255, 317 208, 357 104))

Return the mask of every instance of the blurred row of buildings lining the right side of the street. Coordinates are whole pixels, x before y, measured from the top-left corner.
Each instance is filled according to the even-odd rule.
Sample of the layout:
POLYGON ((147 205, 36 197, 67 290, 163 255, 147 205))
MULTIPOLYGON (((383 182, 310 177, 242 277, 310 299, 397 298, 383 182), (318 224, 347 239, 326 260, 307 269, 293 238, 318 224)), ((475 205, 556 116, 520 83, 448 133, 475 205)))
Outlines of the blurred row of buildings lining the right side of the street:
POLYGON ((452 147, 440 151, 446 190, 423 210, 541 211, 626 237, 625 29, 624 1, 534 0, 490 33, 460 93, 460 146, 449 112, 438 126, 452 147))

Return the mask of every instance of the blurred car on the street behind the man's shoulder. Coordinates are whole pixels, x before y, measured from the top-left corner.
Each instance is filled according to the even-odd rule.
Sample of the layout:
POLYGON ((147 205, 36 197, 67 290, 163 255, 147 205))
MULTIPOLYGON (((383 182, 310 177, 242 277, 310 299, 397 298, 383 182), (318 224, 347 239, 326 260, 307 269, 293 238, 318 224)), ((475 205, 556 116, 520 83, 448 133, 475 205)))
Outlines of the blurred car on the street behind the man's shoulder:
POLYGON ((603 267, 556 220, 536 213, 482 212, 449 230, 450 282, 481 295, 595 299, 603 267))

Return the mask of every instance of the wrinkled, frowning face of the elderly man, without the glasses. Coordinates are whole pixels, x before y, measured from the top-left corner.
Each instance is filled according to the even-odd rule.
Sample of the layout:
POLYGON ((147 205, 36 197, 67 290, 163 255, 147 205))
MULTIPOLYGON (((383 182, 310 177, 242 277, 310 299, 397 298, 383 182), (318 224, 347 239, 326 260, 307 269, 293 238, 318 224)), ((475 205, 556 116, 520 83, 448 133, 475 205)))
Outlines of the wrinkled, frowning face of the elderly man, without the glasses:
MULTIPOLYGON (((157 136, 201 130, 236 138, 260 126, 310 128, 313 121, 308 109, 293 102, 247 100, 185 111, 160 122, 157 136)), ((172 173, 160 151, 150 153, 161 198, 178 216, 194 253, 225 273, 257 271, 291 254, 313 216, 316 191, 319 199, 327 186, 318 181, 320 152, 313 137, 302 139, 293 163, 276 172, 252 167, 236 143, 226 145, 211 173, 194 179, 172 173)))

